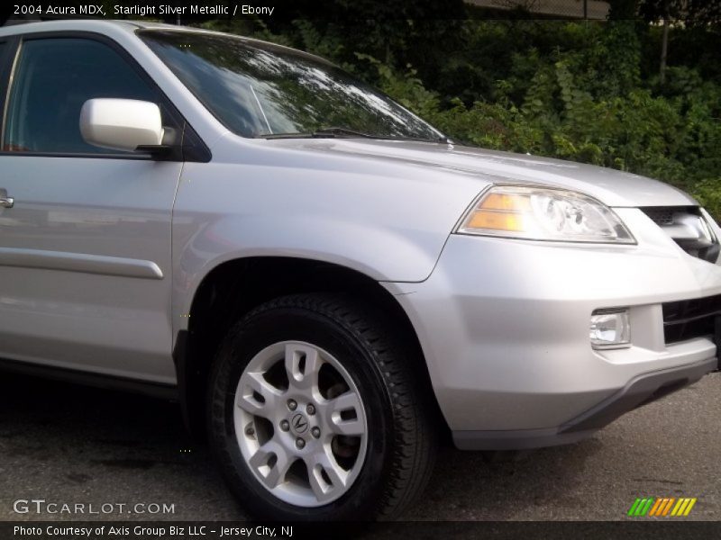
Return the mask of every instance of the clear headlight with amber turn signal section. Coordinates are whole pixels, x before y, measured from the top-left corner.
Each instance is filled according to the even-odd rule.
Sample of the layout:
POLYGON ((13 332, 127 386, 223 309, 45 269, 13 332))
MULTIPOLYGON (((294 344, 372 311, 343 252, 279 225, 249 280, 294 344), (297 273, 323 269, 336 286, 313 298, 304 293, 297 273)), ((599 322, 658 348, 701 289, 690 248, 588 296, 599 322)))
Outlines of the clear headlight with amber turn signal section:
POLYGON ((458 232, 531 240, 635 244, 605 204, 544 187, 497 185, 461 221, 458 232))

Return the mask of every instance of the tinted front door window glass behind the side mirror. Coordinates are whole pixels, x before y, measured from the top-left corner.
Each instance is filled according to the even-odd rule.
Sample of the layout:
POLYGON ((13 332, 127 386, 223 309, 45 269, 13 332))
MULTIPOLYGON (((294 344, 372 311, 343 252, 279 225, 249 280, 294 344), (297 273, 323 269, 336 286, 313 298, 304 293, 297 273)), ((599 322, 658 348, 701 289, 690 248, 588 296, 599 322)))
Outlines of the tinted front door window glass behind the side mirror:
POLYGON ((80 134, 80 108, 95 97, 160 102, 157 91, 105 43, 81 38, 24 41, 7 106, 3 151, 122 153, 89 145, 80 134))

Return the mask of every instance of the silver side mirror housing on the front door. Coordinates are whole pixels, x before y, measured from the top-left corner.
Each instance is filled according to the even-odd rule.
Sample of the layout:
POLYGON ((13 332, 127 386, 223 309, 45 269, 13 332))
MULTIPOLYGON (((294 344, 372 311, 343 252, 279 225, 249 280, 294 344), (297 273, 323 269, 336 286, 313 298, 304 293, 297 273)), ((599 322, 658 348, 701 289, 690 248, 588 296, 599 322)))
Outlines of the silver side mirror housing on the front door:
POLYGON ((114 150, 163 148, 160 107, 135 99, 98 97, 80 110, 80 133, 88 144, 114 150))

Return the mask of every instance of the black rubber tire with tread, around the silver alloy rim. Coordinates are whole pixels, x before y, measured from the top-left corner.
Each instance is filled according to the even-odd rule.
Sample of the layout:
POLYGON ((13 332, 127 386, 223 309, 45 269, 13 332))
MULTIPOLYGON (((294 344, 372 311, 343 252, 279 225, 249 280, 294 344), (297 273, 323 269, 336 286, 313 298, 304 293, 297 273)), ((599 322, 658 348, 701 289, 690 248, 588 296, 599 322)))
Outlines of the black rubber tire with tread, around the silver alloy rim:
POLYGON ((254 309, 228 332, 207 392, 209 440, 234 495, 256 518, 326 521, 394 518, 424 490, 436 434, 423 366, 382 313, 337 294, 298 294, 254 309), (233 424, 235 391, 251 358, 273 343, 297 340, 331 353, 351 375, 365 405, 367 453, 355 482, 338 500, 315 508, 268 491, 243 459, 233 424))

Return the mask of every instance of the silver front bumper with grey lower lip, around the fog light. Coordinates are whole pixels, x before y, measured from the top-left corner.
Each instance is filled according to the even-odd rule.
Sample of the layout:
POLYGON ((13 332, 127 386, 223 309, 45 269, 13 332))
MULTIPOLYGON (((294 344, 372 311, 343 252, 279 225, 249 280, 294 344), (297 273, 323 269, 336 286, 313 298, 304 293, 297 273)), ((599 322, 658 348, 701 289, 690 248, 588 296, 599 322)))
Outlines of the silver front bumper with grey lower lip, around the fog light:
POLYGON ((664 342, 662 302, 721 293, 721 267, 642 211, 616 212, 637 246, 452 235, 425 282, 386 284, 459 447, 572 442, 715 368, 713 337, 664 342), (630 308, 631 347, 594 350, 591 313, 616 307, 630 308))

